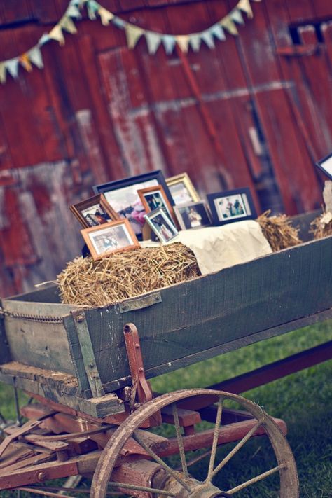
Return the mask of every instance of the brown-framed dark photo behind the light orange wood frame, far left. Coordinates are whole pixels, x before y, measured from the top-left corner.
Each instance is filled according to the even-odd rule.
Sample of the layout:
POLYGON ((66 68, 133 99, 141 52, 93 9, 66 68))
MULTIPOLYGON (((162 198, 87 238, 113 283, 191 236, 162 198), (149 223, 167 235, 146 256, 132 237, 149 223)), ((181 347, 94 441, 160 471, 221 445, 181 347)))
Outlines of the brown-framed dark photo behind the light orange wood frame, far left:
POLYGON ((103 194, 94 195, 93 197, 82 200, 77 204, 69 206, 69 209, 84 228, 120 219, 120 216, 109 205, 103 194))

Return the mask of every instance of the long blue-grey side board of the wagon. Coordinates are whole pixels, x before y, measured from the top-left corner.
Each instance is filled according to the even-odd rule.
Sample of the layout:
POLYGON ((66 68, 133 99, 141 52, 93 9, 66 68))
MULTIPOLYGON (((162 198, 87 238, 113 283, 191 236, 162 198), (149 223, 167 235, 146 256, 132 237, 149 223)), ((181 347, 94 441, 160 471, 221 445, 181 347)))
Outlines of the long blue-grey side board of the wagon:
POLYGON ((196 353, 202 359, 213 347, 328 310, 332 269, 321 261, 331 257, 328 237, 162 289, 162 305, 125 314, 117 305, 88 310, 102 382, 113 375, 129 375, 122 333, 125 322, 138 328, 148 371, 167 361, 171 369, 178 368, 175 360, 196 353))

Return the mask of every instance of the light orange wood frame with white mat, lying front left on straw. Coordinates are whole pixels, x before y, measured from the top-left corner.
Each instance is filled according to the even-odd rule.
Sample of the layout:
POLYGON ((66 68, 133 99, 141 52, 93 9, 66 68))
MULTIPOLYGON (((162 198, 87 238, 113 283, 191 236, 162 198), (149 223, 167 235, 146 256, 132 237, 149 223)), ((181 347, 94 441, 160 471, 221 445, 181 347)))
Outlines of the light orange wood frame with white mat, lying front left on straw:
POLYGON ((127 219, 111 221, 101 226, 81 230, 92 258, 105 258, 114 252, 129 251, 140 247, 127 219))

